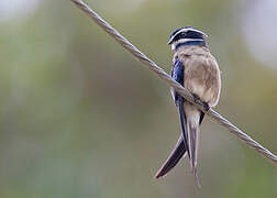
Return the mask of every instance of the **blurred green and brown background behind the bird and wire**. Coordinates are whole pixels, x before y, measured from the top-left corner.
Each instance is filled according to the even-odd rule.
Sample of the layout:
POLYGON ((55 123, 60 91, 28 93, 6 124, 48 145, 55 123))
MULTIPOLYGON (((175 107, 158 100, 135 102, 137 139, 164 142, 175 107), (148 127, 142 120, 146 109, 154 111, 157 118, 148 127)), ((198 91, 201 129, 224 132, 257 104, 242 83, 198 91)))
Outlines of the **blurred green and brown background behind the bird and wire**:
MULTIPOLYGON (((277 153, 276 0, 86 2, 167 72, 171 31, 209 34, 217 110, 277 153)), ((277 197, 276 167, 208 117, 201 189, 187 158, 154 179, 180 134, 169 87, 69 0, 0 1, 0 56, 1 198, 277 197)))

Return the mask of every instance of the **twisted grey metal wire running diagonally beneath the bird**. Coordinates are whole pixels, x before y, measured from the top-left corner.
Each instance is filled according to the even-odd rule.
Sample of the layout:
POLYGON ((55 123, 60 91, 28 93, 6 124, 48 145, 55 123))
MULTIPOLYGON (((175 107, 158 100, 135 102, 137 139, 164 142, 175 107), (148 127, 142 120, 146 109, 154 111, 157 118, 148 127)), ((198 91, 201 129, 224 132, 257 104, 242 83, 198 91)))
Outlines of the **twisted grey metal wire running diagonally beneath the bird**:
POLYGON ((70 0, 74 2, 80 10, 82 10, 88 16, 90 16, 99 26, 102 28, 108 34, 110 34, 120 45, 128 50, 132 55, 136 57, 137 61, 142 62, 147 66, 152 72, 154 72, 159 78, 165 80, 170 87, 173 87, 177 92, 179 92, 186 100, 193 103, 196 107, 201 109, 206 114, 213 118, 218 123, 225 127, 231 133, 236 135, 242 142, 246 143, 251 148, 257 151, 261 155, 270 160, 274 165, 277 165, 277 156, 273 154, 267 148, 263 147, 259 143, 254 141, 251 136, 245 134, 237 127, 232 124, 221 114, 219 114, 213 109, 208 111, 204 108, 204 105, 199 100, 195 100, 191 94, 186 90, 182 86, 176 82, 164 69, 157 66, 152 59, 149 59, 145 54, 138 51, 132 43, 130 43, 124 36, 122 36, 115 29, 113 29, 108 22, 106 22, 98 13, 91 10, 86 3, 81 0, 70 0))

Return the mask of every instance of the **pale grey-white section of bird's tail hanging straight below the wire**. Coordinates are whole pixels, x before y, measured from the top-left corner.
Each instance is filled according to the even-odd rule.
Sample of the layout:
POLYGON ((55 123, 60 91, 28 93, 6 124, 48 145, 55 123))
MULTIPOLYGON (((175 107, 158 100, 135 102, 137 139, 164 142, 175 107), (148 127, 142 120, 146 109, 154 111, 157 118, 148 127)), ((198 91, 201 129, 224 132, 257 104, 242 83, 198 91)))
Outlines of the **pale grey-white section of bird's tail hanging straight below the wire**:
POLYGON ((189 103, 186 103, 184 107, 187 118, 188 151, 190 156, 189 157, 190 167, 196 177, 198 186, 200 186, 197 175, 197 158, 198 158, 199 127, 202 112, 189 103))

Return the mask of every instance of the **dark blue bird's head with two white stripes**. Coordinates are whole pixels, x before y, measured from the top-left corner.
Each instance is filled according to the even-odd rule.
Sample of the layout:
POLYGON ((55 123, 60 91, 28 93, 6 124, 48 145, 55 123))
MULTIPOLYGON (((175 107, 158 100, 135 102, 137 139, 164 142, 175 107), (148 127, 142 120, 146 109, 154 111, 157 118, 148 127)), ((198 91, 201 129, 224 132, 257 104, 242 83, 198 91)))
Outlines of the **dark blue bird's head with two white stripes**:
POLYGON ((185 26, 174 31, 168 41, 168 45, 171 45, 171 50, 176 51, 181 45, 204 45, 206 37, 208 35, 191 26, 185 26))

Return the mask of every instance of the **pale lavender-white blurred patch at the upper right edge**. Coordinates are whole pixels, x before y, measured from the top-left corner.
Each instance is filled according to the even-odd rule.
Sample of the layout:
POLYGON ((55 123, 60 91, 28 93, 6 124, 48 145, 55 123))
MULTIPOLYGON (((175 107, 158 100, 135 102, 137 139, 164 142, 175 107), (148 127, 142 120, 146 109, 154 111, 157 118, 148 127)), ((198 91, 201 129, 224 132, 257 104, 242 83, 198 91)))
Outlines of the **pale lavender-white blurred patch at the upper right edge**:
POLYGON ((242 23, 244 38, 258 62, 277 68, 277 1, 254 2, 245 12, 242 23))

